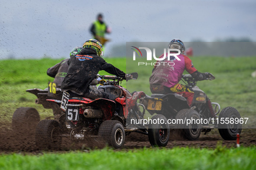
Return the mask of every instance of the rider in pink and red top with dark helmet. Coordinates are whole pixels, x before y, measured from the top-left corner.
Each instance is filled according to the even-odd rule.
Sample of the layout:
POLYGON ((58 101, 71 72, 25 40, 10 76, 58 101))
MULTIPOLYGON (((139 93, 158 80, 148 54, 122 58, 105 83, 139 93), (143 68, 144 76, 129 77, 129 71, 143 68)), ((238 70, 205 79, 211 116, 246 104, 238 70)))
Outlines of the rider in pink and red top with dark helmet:
MULTIPOLYGON (((191 76, 196 80, 205 80, 210 78, 212 74, 209 72, 198 72, 192 61, 184 55, 185 45, 181 40, 173 39, 169 43, 168 48, 180 50, 181 54, 177 56, 180 60, 170 56, 170 60, 168 60, 166 57, 165 60, 161 61, 168 64, 154 66, 152 75, 149 78, 150 90, 153 94, 181 94, 183 97, 187 98, 187 103, 189 107, 191 107, 194 98, 194 91, 189 88, 189 86, 178 83, 181 80, 184 70, 191 74, 191 76)), ((175 50, 171 52, 176 53, 175 50)), ((165 56, 167 55, 168 54, 165 56)), ((164 57, 164 54, 162 54, 159 58, 162 57, 164 57)))

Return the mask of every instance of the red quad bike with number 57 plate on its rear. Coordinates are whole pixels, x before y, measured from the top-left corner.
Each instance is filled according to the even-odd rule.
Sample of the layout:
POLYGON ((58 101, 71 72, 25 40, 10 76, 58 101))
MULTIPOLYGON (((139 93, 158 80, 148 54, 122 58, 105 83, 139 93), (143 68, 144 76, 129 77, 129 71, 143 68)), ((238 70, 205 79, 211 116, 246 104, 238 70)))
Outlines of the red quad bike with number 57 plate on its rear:
MULTIPOLYGON (((137 79, 138 73, 131 73, 132 79, 137 79)), ((62 137, 72 141, 103 141, 115 149, 123 148, 125 137, 131 132, 138 132, 149 136, 152 146, 166 146, 169 140, 169 125, 165 116, 156 115, 152 120, 162 119, 159 124, 131 124, 131 119, 143 119, 146 111, 143 104, 137 104, 139 98, 146 96, 143 91, 130 93, 119 85, 125 80, 117 76, 99 76, 99 91, 109 94, 110 99, 73 97, 64 92, 62 101, 58 104, 65 114, 59 119, 42 120, 36 127, 36 145, 42 148, 54 148, 62 142, 62 137), (140 111, 143 108, 143 112, 140 111)))

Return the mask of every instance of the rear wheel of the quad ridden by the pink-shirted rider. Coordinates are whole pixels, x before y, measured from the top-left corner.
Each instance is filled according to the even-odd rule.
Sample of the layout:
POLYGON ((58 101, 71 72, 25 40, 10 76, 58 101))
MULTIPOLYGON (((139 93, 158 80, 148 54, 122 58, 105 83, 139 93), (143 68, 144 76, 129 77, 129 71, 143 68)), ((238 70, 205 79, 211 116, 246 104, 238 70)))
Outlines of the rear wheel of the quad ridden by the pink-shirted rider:
POLYGON ((197 140, 201 134, 201 123, 193 121, 187 124, 186 120, 200 120, 200 116, 196 110, 183 109, 176 115, 175 131, 181 135, 181 137, 190 141, 197 140), (182 120, 182 122, 180 122, 182 120))

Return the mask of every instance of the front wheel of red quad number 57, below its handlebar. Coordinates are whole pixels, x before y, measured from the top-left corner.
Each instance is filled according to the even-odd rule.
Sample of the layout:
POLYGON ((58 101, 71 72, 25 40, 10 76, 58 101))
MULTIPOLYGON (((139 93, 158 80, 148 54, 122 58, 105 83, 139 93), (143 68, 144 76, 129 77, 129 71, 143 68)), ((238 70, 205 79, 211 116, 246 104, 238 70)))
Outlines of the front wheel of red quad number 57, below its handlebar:
POLYGON ((152 116, 149 123, 149 142, 152 147, 165 147, 169 142, 170 129, 165 116, 157 114, 152 116))

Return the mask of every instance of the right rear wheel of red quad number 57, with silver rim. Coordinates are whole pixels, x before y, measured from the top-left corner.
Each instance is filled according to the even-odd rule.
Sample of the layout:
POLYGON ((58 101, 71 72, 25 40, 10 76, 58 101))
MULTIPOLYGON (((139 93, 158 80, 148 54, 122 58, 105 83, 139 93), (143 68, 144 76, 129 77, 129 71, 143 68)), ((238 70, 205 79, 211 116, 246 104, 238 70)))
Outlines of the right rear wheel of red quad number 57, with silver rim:
POLYGON ((98 135, 103 142, 106 142, 114 149, 120 149, 124 146, 124 128, 122 123, 117 120, 106 120, 101 123, 98 135))

